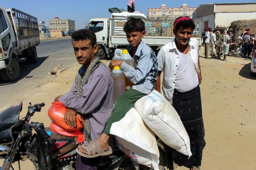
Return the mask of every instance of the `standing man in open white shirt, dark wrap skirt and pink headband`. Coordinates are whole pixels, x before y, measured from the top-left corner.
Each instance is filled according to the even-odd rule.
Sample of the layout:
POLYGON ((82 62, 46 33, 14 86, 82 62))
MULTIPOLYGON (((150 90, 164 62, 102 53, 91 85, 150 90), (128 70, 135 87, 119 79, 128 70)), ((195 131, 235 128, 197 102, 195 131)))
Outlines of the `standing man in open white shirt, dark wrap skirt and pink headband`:
POLYGON ((156 90, 161 92, 161 73, 164 72, 162 94, 173 105, 189 135, 192 156, 173 149, 174 169, 186 166, 199 170, 202 161, 204 124, 200 87, 202 81, 199 62, 198 41, 191 38, 195 29, 189 17, 179 17, 174 21, 175 39, 160 48, 157 54, 158 76, 156 90))

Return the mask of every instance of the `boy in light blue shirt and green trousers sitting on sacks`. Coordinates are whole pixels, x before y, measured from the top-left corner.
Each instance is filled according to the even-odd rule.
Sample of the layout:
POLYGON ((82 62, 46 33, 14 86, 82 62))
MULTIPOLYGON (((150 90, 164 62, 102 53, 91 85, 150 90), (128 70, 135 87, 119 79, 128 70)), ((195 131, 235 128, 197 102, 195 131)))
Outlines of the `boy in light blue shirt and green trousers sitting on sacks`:
POLYGON ((78 146, 77 153, 84 157, 93 158, 110 154, 111 148, 109 147, 108 139, 112 124, 120 121, 137 100, 148 95, 155 88, 158 63, 154 51, 142 41, 146 34, 144 21, 140 18, 130 17, 123 30, 129 42, 126 49, 134 58, 135 68, 122 60, 112 60, 109 63, 109 68, 113 69, 114 66, 120 66, 120 70, 134 85, 117 97, 106 128, 99 139, 90 142, 87 146, 78 146))

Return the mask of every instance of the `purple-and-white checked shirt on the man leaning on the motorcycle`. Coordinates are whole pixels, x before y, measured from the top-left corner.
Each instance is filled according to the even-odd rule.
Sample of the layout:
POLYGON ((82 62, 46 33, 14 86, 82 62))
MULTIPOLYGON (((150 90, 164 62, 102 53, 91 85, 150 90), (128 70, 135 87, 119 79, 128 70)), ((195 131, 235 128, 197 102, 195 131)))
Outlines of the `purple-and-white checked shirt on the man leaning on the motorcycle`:
MULTIPOLYGON (((82 66, 79 70, 85 72, 82 66)), ((64 94, 59 101, 64 106, 80 114, 87 114, 91 124, 91 139, 98 139, 106 126, 106 122, 113 109, 114 86, 109 69, 100 63, 88 78, 88 82, 82 87, 82 97, 76 98, 77 79, 70 91, 64 94)), ((87 141, 84 141, 87 145, 87 141)), ((113 140, 109 140, 113 148, 113 140)))

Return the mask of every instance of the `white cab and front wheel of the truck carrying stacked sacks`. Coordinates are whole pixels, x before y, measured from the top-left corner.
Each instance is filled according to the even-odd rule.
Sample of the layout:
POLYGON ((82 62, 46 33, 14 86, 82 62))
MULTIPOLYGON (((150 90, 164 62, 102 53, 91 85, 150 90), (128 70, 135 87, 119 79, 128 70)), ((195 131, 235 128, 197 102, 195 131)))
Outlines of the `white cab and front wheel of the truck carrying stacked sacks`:
POLYGON ((105 59, 109 55, 105 46, 109 42, 109 26, 110 20, 108 18, 92 18, 86 25, 85 29, 91 30, 95 33, 98 44, 97 55, 100 59, 105 59))

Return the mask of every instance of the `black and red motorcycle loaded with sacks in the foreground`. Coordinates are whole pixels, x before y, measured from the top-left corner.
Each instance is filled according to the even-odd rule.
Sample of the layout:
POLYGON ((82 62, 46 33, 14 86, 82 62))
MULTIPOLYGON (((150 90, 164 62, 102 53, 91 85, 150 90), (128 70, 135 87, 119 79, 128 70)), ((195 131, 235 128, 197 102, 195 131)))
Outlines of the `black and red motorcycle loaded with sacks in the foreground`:
MULTIPOLYGON (((19 119, 22 102, 0 113, 0 158, 3 165, 0 170, 14 170, 12 163, 30 160, 35 170, 75 170, 76 148, 74 137, 67 137, 45 128, 43 123, 29 122, 35 112, 40 112, 44 103, 31 105, 23 119, 19 119), (32 133, 34 129, 35 133, 32 133), (50 134, 50 135, 49 135, 50 134)), ((157 139, 160 153, 159 169, 173 169, 170 147, 157 139)), ((99 170, 153 170, 135 162, 120 149, 114 148, 113 153, 102 157, 99 170)))

